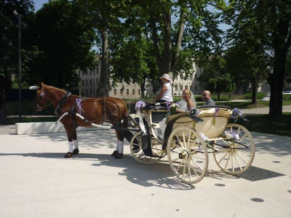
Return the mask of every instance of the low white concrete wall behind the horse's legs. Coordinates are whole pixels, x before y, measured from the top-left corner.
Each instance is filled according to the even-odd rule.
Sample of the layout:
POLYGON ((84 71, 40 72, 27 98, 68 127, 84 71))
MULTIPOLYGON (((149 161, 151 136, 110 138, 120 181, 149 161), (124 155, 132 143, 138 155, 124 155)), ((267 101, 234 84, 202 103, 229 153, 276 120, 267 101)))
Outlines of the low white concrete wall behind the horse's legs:
MULTIPOLYGON (((105 124, 111 125, 111 124, 105 124)), ((78 127, 76 131, 88 131, 88 130, 99 130, 99 127, 78 127)), ((35 122, 35 123, 16 123, 15 133, 17 135, 22 134, 36 134, 36 133, 55 133, 55 132, 65 132, 64 125, 62 123, 55 122, 35 122)))

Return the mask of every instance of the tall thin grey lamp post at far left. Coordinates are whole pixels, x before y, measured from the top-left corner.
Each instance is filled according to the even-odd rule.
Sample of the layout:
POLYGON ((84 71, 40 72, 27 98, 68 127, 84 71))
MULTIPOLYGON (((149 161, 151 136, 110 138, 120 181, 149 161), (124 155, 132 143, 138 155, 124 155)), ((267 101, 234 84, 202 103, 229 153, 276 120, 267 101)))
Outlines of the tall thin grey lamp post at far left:
POLYGON ((15 10, 13 14, 18 17, 18 111, 19 111, 19 122, 21 122, 21 15, 15 10))

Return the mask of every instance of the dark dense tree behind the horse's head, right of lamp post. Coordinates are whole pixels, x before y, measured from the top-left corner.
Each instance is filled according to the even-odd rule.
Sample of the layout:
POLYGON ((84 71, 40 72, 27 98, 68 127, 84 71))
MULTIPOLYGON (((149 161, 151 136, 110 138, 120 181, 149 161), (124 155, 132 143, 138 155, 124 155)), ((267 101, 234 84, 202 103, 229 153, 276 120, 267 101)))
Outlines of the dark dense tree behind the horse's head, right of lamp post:
POLYGON ((30 83, 43 81, 59 88, 78 87, 78 68, 95 68, 95 52, 90 51, 95 31, 86 12, 68 0, 44 4, 30 26, 32 45, 38 56, 30 60, 30 83), (49 19, 48 19, 49 18, 49 19))

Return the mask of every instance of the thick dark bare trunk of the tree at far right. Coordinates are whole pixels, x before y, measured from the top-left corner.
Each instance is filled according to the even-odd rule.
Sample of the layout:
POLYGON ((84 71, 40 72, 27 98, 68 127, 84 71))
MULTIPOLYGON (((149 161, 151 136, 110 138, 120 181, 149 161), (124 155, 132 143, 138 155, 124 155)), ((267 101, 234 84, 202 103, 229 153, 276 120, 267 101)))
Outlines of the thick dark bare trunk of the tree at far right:
POLYGON ((271 88, 269 115, 282 116, 282 90, 284 85, 285 64, 287 50, 285 48, 275 50, 273 74, 269 78, 271 88))

